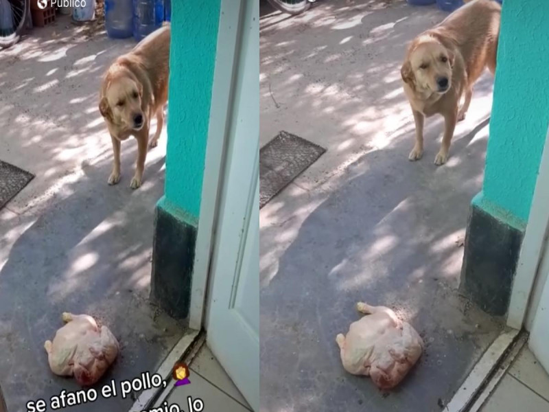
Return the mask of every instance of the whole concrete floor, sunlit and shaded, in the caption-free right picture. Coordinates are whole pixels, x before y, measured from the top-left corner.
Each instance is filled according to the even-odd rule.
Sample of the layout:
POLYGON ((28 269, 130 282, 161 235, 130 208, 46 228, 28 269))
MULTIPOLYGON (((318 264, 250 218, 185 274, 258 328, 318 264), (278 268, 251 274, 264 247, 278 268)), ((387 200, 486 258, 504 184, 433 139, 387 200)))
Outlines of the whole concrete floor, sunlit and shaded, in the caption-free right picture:
POLYGON ((447 14, 404 0, 318 1, 289 17, 261 8, 261 144, 286 130, 327 148, 270 201, 261 227, 262 411, 440 411, 500 331, 458 294, 467 214, 480 191, 492 78, 477 84, 450 158, 408 161, 406 43, 447 14), (426 343, 395 391, 341 365, 335 337, 357 301, 393 307, 426 343))

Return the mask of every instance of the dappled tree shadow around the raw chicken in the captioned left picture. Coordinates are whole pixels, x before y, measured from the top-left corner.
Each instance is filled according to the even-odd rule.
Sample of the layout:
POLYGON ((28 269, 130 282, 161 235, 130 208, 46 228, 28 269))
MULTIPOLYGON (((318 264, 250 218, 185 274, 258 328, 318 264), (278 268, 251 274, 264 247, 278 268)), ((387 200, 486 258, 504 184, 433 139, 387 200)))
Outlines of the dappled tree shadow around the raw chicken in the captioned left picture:
MULTIPOLYGON (((1 268, 0 382, 10 411, 23 410, 30 397, 78 389, 73 380, 51 374, 43 349, 62 325, 62 312, 92 314, 121 342, 121 355, 102 382, 156 370, 182 334, 183 325, 148 300, 164 159, 148 165, 136 191, 124 184, 135 150, 123 159, 126 180, 114 187, 105 179, 110 162, 85 168, 72 194, 57 199, 19 236, 1 268)), ((132 402, 117 397, 79 410, 124 410, 132 402)))

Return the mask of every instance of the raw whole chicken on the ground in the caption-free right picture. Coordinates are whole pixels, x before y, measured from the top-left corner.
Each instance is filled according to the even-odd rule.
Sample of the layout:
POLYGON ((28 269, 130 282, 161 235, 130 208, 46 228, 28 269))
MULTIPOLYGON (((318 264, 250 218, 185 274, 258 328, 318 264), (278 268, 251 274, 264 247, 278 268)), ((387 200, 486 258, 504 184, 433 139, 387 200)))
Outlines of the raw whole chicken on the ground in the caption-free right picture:
POLYGON ((336 342, 346 371, 370 376, 379 389, 391 389, 408 374, 423 352, 423 341, 409 323, 384 306, 356 305, 368 316, 351 323, 336 342))

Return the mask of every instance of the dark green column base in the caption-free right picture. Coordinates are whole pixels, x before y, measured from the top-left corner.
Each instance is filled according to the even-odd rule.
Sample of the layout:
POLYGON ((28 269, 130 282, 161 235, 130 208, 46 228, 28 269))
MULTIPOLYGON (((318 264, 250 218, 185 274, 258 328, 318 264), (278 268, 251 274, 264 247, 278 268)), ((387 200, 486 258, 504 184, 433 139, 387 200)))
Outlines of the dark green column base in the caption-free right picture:
POLYGON ((523 233, 472 204, 461 268, 461 292, 484 312, 509 308, 523 233))

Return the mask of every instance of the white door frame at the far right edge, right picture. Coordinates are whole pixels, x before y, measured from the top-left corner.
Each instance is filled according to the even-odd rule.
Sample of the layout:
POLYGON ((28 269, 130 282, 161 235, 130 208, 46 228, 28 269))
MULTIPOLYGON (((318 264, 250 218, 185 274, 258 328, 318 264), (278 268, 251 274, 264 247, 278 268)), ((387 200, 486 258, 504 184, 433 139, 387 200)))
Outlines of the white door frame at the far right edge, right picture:
POLYGON ((549 264, 549 256, 544 253, 549 234, 549 185, 544 180, 549 178, 549 127, 537 176, 507 314, 507 325, 515 329, 522 329, 523 325, 526 330, 532 328, 547 278, 547 271, 540 271, 539 268, 549 264))

